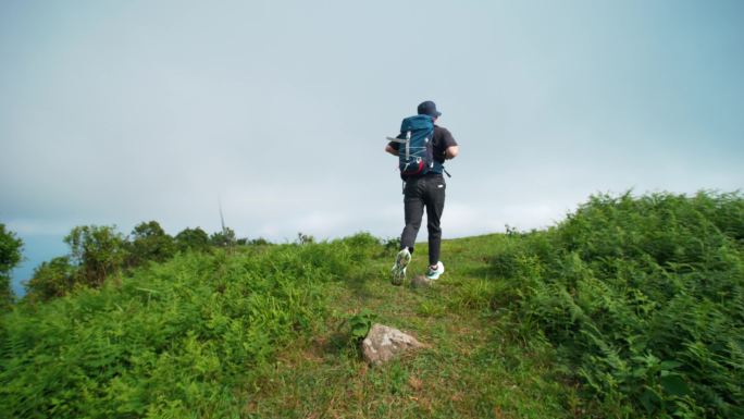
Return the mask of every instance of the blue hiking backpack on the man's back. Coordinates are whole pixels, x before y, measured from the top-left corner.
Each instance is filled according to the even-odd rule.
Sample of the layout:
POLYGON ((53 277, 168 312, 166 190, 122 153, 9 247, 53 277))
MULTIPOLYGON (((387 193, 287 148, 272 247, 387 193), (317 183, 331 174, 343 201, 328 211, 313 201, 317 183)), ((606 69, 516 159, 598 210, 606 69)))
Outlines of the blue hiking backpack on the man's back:
POLYGON ((405 139, 388 138, 399 143, 398 169, 400 177, 406 180, 429 173, 434 168, 434 119, 430 115, 416 115, 402 120, 400 133, 405 139))

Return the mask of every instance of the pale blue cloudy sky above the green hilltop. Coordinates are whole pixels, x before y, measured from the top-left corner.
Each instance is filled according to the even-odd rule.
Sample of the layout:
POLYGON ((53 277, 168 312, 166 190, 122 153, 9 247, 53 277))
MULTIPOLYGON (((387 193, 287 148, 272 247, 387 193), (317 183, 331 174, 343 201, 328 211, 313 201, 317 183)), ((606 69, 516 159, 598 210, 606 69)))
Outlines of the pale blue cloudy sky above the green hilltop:
POLYGON ((445 238, 596 193, 740 189, 743 20, 737 0, 3 0, 15 289, 75 225, 214 232, 219 202, 238 237, 397 236, 384 138, 423 100, 460 145, 445 238))

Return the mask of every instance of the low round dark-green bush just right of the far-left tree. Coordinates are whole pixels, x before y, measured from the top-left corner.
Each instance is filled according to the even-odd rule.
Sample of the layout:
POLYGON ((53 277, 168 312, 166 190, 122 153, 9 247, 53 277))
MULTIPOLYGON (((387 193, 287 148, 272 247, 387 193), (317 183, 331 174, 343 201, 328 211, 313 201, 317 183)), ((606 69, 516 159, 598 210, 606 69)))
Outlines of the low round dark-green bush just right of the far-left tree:
POLYGON ((65 295, 75 285, 75 272, 66 256, 42 262, 26 283, 27 298, 46 300, 65 295))

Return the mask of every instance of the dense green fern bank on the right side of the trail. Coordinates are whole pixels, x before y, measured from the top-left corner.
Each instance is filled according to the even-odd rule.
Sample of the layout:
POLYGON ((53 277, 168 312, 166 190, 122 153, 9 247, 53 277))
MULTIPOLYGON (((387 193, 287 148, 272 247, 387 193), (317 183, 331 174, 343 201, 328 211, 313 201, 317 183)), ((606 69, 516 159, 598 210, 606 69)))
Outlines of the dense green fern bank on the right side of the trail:
POLYGON ((493 266, 608 412, 744 417, 743 229, 739 194, 599 195, 493 266))

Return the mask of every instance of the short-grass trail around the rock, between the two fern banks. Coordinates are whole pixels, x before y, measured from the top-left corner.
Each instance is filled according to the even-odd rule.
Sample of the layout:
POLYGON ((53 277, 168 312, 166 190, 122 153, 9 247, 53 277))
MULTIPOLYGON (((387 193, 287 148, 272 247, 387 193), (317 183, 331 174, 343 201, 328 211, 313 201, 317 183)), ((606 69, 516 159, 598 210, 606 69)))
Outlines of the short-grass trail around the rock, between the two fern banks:
POLYGON ((547 377, 544 348, 506 338, 498 310, 483 296, 496 281, 488 278, 487 261, 501 237, 444 242, 447 271, 429 288, 409 286, 425 270, 425 245, 417 248, 404 286, 389 284, 389 256, 333 284, 326 324, 313 340, 280 355, 261 389, 246 392, 246 416, 573 417, 567 405, 575 395, 547 377), (431 348, 368 367, 344 330, 344 320, 363 308, 431 348))

